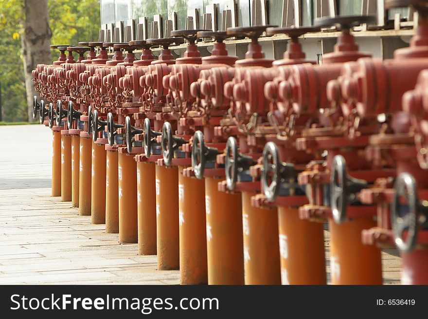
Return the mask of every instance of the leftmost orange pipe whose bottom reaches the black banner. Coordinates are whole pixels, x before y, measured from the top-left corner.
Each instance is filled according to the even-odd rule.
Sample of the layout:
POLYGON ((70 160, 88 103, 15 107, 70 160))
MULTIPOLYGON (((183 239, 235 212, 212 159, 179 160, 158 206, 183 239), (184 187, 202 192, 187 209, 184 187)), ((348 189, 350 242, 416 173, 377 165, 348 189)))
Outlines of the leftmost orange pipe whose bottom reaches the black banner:
POLYGON ((207 284, 205 183, 178 168, 180 283, 207 284))

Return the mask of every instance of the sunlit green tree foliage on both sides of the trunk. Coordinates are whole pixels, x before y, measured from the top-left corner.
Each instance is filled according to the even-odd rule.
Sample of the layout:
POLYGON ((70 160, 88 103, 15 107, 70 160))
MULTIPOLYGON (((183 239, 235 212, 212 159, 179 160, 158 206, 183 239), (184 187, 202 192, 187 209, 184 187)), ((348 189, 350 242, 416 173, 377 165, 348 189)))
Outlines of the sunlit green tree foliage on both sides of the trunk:
MULTIPOLYGON (((22 0, 0 0, 0 91, 2 120, 28 120, 21 39, 22 0)), ((48 0, 53 44, 98 39, 99 0, 48 0)), ((52 50, 52 60, 58 51, 52 50)))

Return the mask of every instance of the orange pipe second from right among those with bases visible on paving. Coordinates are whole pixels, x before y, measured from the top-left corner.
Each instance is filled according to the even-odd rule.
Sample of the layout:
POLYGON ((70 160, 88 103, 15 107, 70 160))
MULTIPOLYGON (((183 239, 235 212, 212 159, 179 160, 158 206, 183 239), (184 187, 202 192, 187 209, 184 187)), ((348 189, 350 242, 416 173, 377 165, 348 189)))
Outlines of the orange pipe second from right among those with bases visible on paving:
POLYGON ((155 163, 137 162, 138 254, 156 255, 155 163))

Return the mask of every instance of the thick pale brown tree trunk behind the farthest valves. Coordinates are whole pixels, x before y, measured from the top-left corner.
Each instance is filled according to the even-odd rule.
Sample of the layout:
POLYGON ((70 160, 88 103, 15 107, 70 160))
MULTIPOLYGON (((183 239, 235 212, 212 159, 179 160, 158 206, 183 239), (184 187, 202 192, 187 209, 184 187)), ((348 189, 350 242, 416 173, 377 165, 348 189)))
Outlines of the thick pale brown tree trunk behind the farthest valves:
POLYGON ((27 91, 28 120, 33 122, 33 96, 38 94, 34 89, 31 71, 37 64, 51 64, 52 30, 49 27, 48 0, 24 0, 24 17, 21 37, 24 60, 25 88, 27 91))

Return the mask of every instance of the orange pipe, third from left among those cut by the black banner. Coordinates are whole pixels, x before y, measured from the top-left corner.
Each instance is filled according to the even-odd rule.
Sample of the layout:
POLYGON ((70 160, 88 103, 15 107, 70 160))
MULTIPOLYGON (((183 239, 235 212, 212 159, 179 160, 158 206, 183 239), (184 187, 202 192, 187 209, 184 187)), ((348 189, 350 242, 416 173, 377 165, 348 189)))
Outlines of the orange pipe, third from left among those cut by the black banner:
POLYGON ((251 206, 242 192, 245 284, 281 284, 277 209, 251 206))

